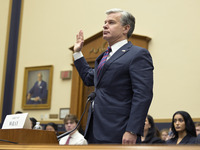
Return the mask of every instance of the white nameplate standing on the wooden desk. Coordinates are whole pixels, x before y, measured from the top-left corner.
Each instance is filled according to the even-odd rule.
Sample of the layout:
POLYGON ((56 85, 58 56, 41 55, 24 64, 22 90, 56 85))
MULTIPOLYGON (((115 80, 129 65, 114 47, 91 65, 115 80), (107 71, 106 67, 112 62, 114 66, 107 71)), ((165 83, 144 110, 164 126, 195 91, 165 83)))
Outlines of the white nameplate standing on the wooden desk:
POLYGON ((7 115, 2 129, 31 129, 28 113, 7 115))

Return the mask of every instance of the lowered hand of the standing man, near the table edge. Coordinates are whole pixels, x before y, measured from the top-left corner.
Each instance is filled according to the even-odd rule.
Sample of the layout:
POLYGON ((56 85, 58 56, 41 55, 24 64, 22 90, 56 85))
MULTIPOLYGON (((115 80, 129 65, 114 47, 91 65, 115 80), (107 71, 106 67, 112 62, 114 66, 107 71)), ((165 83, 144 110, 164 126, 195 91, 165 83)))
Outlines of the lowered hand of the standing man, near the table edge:
POLYGON ((137 140, 137 135, 136 134, 132 134, 130 132, 125 132, 123 137, 122 137, 122 144, 135 144, 137 140))

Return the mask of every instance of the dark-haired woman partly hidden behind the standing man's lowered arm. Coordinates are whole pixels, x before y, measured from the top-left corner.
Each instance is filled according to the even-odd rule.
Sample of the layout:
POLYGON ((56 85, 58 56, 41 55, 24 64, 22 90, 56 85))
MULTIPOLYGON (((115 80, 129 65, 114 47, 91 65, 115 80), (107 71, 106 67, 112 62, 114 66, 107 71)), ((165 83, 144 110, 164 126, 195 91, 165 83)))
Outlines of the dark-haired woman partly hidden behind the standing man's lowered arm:
POLYGON ((144 135, 141 137, 142 143, 158 144, 164 143, 157 134, 154 120, 150 115, 147 115, 144 126, 144 135))

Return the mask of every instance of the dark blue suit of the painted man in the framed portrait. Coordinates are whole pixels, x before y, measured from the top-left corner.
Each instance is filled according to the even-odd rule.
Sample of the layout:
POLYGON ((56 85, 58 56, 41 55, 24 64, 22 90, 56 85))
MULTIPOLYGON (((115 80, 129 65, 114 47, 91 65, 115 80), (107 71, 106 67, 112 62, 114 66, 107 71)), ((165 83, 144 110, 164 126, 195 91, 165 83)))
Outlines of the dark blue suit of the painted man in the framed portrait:
POLYGON ((35 82, 34 86, 30 89, 29 93, 31 94, 31 98, 40 97, 42 99, 41 102, 34 102, 31 100, 27 101, 27 104, 40 104, 46 103, 47 100, 47 83, 45 81, 41 81, 40 86, 38 86, 38 81, 35 82))

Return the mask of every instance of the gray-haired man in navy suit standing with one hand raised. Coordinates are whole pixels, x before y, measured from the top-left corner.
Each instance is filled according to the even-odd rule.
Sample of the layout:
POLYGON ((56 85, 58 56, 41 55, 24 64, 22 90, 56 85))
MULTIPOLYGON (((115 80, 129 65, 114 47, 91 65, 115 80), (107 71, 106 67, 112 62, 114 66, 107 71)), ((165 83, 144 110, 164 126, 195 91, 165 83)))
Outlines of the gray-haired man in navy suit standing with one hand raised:
POLYGON ((74 64, 87 86, 95 86, 96 98, 85 131, 89 143, 135 144, 143 134, 153 96, 153 64, 148 50, 128 42, 135 18, 120 9, 106 12, 103 38, 110 49, 89 67, 81 49, 83 32, 74 45, 74 64), (137 138, 138 137, 138 138, 137 138))

